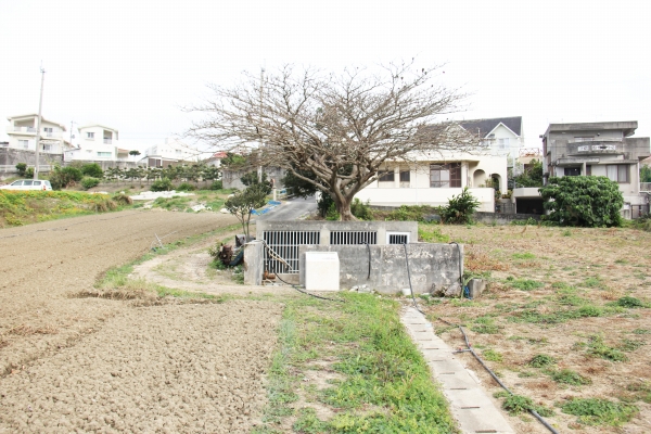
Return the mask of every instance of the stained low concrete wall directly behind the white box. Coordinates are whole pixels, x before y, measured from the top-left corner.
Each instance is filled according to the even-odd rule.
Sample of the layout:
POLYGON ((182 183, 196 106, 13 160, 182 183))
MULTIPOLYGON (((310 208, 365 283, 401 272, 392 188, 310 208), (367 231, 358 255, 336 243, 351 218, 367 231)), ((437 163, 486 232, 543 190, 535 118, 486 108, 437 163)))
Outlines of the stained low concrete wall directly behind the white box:
MULTIPOLYGON (((368 285, 383 294, 395 294, 409 288, 405 246, 370 245, 304 245, 298 247, 301 259, 299 281, 305 283, 305 252, 336 252, 340 259, 340 286, 368 285)), ((432 292, 434 285, 448 286, 459 281, 463 269, 463 246, 456 244, 407 244, 409 272, 413 292, 432 292), (460 253, 460 255, 459 255, 460 253), (459 264, 461 258, 461 264, 459 264), (461 266, 461 268, 459 268, 461 266)))

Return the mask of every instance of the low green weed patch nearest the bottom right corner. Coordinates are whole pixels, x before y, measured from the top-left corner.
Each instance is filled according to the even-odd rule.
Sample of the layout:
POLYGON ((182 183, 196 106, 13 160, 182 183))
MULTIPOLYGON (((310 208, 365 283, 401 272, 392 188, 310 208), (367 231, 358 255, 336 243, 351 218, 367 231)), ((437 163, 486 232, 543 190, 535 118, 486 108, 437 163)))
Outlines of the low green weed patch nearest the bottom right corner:
POLYGON ((578 416, 578 422, 586 425, 618 426, 630 421, 639 409, 629 404, 608 399, 577 398, 563 404, 561 411, 565 414, 578 416))

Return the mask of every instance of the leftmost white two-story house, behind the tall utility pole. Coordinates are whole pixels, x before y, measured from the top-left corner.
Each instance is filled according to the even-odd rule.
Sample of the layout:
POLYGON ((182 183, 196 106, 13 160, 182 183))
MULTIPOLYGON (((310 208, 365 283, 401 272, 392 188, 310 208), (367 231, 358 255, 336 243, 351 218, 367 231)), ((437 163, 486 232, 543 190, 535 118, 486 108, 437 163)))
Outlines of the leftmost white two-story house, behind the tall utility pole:
MULTIPOLYGON (((9 136, 8 148, 36 151, 38 114, 10 116, 7 120, 11 124, 7 127, 7 135, 9 136)), ((39 152, 63 154, 69 148, 69 142, 64 137, 65 131, 65 125, 48 120, 41 116, 39 152)))

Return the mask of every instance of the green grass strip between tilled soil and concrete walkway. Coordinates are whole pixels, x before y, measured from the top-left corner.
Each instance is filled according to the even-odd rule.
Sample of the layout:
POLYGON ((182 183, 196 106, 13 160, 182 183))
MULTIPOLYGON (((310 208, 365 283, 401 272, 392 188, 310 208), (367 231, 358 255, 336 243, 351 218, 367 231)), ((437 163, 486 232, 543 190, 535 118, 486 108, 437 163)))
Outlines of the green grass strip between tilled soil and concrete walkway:
POLYGON ((399 322, 398 304, 370 294, 341 296, 346 303, 283 298, 269 405, 255 433, 273 432, 285 418, 305 433, 456 432, 445 398, 399 322), (342 375, 316 393, 320 405, 335 412, 331 420, 319 420, 309 403, 298 411, 292 404, 298 399, 302 372, 323 359, 332 360, 329 369, 342 375))

